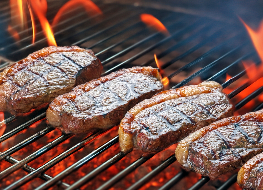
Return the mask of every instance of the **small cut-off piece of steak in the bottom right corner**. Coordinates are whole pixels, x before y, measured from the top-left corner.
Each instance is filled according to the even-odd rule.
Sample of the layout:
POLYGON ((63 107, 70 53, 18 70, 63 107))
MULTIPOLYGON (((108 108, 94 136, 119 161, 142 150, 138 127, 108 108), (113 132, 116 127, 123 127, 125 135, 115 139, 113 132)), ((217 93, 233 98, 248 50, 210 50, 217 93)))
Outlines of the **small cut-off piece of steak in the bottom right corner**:
POLYGON ((241 167, 237 183, 247 190, 263 189, 263 153, 254 156, 241 167))

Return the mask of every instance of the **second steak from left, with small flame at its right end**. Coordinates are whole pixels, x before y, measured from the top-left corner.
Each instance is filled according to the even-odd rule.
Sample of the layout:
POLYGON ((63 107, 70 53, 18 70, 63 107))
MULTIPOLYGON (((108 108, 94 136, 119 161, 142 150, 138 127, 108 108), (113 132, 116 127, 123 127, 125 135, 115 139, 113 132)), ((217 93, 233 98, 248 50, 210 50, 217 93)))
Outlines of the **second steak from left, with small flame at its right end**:
POLYGON ((118 125, 138 102, 163 89, 156 68, 121 69, 75 87, 54 99, 47 110, 50 124, 65 133, 84 134, 118 125))

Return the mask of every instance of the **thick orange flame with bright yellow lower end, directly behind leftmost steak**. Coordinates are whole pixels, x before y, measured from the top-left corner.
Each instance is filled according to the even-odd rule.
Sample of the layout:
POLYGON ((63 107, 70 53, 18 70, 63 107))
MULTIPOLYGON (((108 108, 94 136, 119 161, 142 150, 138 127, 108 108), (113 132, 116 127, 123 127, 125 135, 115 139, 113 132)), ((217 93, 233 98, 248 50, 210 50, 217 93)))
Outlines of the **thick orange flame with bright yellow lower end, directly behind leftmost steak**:
POLYGON ((41 24, 41 27, 44 31, 45 36, 48 39, 48 45, 49 46, 57 46, 57 42, 56 42, 54 34, 51 30, 50 24, 48 23, 48 20, 45 17, 46 7, 44 7, 44 8, 42 7, 43 4, 45 5, 45 3, 43 3, 43 1, 46 1, 46 0, 42 0, 42 1, 31 0, 30 4, 32 6, 34 13, 37 15, 37 17, 40 21, 40 24, 41 24))

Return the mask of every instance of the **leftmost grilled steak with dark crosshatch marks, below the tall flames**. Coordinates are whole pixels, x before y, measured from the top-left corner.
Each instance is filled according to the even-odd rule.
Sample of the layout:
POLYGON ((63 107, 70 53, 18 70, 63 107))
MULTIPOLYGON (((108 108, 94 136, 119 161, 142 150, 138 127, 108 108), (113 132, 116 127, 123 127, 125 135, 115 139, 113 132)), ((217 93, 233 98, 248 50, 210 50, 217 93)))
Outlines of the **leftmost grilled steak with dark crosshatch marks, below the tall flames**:
POLYGON ((73 87, 100 77, 102 64, 91 50, 50 46, 0 73, 0 111, 29 112, 73 87))

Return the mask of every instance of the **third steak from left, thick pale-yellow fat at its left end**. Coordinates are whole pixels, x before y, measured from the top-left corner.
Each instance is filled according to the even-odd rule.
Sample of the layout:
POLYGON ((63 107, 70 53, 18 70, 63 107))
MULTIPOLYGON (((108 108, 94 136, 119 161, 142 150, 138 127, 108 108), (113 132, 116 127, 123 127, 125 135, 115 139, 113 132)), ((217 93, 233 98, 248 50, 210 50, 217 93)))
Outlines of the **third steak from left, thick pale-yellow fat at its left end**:
POLYGON ((122 119, 120 148, 156 153, 199 128, 232 116, 233 106, 220 84, 209 81, 160 92, 122 119))

